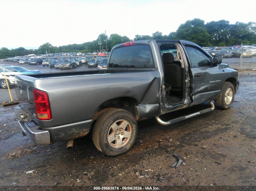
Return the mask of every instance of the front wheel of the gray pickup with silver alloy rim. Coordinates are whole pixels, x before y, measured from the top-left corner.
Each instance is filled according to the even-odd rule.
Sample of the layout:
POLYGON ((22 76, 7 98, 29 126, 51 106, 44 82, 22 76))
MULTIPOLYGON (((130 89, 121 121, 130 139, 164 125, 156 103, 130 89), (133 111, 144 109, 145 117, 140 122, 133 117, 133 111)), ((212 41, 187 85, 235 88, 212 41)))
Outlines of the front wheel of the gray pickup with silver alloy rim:
POLYGON ((227 82, 227 81, 224 82, 221 88, 220 95, 214 100, 215 107, 221 110, 229 109, 234 101, 234 95, 235 95, 234 85, 231 82, 227 82), (231 97, 229 96, 230 93, 227 92, 228 90, 232 91, 231 97))

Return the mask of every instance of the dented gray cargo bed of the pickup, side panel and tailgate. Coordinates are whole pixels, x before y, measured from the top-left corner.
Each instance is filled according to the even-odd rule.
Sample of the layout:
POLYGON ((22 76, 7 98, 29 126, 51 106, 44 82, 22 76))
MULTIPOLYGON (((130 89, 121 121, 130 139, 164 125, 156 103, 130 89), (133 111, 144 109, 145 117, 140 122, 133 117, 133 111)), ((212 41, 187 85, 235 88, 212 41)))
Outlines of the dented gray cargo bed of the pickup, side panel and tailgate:
MULTIPOLYGON (((41 127, 51 132, 51 140, 73 137, 69 129, 88 132, 94 113, 109 100, 130 97, 145 105, 153 104, 158 112, 160 74, 151 70, 95 70, 40 73, 15 76, 15 90, 20 107, 41 127), (47 92, 52 111, 51 120, 36 117, 33 89, 47 92), (55 137, 55 132, 63 137, 55 137), (64 136, 65 134, 65 136, 64 136)), ((79 134, 79 133, 78 133, 79 134)), ((76 136, 76 135, 74 135, 76 136)))

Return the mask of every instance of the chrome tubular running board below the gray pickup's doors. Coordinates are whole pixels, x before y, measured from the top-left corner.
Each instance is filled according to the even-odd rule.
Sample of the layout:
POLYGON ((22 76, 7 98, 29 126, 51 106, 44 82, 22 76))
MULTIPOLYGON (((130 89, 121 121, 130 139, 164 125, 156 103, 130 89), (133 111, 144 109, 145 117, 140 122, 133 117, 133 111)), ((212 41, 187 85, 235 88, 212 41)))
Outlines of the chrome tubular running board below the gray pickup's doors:
POLYGON ((159 116, 156 116, 155 119, 157 120, 158 123, 160 123, 161 125, 171 125, 173 123, 176 123, 176 122, 179 122, 179 121, 182 121, 182 120, 185 120, 185 119, 188 119, 188 118, 191 118, 191 117, 194 117, 194 116, 198 116, 198 115, 201 115, 203 113, 208 113, 212 110, 214 110, 214 104, 212 103, 212 101, 209 101, 210 105, 211 105, 211 108, 208 108, 208 109, 204 109, 204 110, 201 110, 201 111, 198 111, 198 112, 195 112, 195 113, 191 113, 189 115, 186 115, 186 116, 182 116, 182 117, 178 117, 176 119, 171 119, 170 121, 163 121, 159 118, 159 116))

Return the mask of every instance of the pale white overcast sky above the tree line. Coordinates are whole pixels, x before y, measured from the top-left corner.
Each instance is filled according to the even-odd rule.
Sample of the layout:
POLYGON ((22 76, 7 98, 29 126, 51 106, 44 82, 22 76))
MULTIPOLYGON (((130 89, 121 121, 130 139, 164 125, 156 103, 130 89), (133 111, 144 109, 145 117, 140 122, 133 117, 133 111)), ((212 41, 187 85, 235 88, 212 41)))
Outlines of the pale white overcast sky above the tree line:
POLYGON ((81 44, 112 33, 133 39, 156 31, 168 35, 200 18, 256 22, 256 1, 241 0, 0 0, 0 48, 37 49, 81 44), (248 5, 248 3, 250 5, 248 5))

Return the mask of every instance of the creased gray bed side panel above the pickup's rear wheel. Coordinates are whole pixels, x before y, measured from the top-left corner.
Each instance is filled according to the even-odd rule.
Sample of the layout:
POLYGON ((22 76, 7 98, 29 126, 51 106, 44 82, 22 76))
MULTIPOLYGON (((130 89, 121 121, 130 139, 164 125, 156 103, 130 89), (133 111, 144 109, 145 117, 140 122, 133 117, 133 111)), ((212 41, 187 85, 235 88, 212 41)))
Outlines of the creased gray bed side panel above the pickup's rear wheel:
MULTIPOLYGON (((102 103, 113 98, 131 97, 143 105, 159 103, 158 71, 108 72, 104 75, 38 79, 35 86, 48 92, 52 110, 52 120, 39 121, 42 129, 90 120, 102 103)), ((57 133, 58 128, 55 131, 57 133)), ((74 133, 74 136, 79 134, 74 133)))

